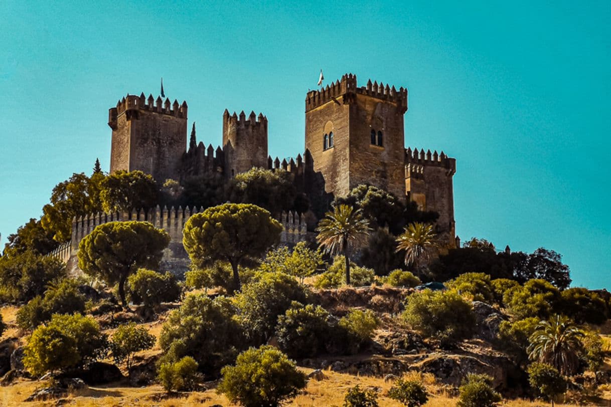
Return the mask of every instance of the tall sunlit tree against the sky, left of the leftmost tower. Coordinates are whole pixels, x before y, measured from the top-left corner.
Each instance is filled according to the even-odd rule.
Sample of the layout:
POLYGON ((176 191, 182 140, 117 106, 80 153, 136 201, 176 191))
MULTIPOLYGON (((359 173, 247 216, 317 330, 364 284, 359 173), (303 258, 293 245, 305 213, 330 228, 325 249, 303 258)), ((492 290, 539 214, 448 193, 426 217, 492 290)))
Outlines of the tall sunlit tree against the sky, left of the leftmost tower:
POLYGON ((102 210, 100 184, 104 178, 101 171, 94 172, 91 177, 84 173, 75 173, 70 179, 60 182, 53 188, 50 203, 43 207, 44 215, 40 222, 46 231, 53 234, 54 240, 57 242, 70 240, 74 217, 94 214, 102 210))

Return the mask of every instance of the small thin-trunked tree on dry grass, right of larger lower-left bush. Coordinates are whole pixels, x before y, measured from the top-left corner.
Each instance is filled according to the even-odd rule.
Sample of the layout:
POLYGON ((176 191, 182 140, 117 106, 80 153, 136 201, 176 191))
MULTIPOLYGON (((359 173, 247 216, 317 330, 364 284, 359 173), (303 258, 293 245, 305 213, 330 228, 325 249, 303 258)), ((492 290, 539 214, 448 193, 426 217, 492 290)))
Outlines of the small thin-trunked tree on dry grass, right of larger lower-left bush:
POLYGON ((111 336, 110 347, 115 363, 125 361, 128 375, 137 351, 147 350, 155 345, 155 336, 145 328, 139 328, 135 322, 119 325, 111 336))

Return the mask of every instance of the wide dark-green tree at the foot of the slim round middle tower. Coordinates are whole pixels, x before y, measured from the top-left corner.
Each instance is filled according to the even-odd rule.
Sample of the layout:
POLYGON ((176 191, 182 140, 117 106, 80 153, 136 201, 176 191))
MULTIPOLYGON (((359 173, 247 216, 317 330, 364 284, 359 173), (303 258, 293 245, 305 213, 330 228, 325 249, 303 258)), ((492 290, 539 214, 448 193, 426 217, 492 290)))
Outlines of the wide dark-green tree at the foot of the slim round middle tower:
POLYGON ((307 207, 295 207, 297 195, 290 173, 263 168, 251 168, 236 175, 227 189, 230 202, 255 204, 274 216, 279 216, 282 211, 307 211, 307 207))

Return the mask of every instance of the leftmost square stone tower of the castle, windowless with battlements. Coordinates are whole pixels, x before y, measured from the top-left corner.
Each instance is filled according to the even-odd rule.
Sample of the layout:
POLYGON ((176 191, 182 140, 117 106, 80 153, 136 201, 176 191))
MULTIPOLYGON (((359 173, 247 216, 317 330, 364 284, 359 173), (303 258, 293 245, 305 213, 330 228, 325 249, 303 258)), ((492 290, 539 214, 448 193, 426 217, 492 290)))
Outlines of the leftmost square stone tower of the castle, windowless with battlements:
POLYGON ((187 104, 152 95, 127 95, 108 112, 112 129, 111 173, 141 170, 163 184, 178 179, 186 151, 187 104))

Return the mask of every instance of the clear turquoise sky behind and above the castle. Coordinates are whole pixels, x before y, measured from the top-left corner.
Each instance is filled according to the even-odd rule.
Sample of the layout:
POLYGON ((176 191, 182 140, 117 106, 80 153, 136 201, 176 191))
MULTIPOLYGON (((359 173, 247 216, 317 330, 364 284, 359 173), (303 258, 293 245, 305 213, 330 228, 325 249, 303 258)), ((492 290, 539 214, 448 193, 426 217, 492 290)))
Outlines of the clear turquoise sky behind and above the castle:
POLYGON ((0 232, 73 172, 108 170, 108 109, 186 100, 199 140, 263 112, 269 153, 304 149, 320 68, 408 87, 406 146, 458 160, 456 230, 563 254, 611 288, 611 2, 0 2, 0 232))

